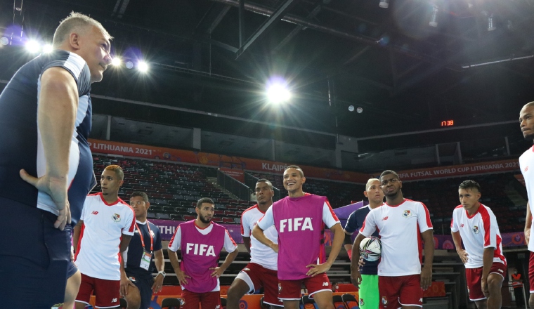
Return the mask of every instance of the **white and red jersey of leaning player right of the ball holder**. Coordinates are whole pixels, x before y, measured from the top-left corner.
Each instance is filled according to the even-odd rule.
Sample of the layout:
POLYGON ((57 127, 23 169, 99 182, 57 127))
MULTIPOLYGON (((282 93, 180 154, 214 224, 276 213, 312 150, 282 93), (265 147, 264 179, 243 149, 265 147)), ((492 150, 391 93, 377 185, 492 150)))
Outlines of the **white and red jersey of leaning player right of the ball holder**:
POLYGON ((497 218, 491 209, 480 204, 476 213, 469 216, 462 205, 452 211, 451 232, 459 232, 467 251, 465 268, 479 268, 484 265, 484 249, 495 248, 493 262, 506 265, 506 258, 502 255, 502 238, 497 225, 497 218))

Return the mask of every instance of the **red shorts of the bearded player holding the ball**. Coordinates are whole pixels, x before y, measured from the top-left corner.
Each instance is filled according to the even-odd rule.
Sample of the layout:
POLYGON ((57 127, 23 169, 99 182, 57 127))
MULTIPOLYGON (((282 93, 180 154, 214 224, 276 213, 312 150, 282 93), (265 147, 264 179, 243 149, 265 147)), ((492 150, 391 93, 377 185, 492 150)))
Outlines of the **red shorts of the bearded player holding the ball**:
POLYGON ((423 306, 421 275, 378 276, 378 290, 381 309, 397 309, 403 305, 423 306))

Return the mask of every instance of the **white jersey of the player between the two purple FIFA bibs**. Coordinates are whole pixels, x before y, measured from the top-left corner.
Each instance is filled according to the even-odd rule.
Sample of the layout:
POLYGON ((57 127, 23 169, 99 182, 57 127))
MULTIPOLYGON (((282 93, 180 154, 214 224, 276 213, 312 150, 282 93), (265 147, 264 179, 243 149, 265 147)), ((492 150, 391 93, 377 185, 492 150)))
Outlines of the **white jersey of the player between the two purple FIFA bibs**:
MULTIPOLYGON (((250 237, 251 263, 259 264, 270 270, 277 270, 278 254, 252 236, 254 225, 258 224, 259 219, 261 219, 264 214, 265 213, 259 210, 257 204, 243 211, 241 215, 241 236, 250 237)), ((278 244, 278 232, 276 232, 274 225, 267 228, 267 230, 264 230, 263 234, 265 234, 268 239, 271 239, 272 242, 278 244)))

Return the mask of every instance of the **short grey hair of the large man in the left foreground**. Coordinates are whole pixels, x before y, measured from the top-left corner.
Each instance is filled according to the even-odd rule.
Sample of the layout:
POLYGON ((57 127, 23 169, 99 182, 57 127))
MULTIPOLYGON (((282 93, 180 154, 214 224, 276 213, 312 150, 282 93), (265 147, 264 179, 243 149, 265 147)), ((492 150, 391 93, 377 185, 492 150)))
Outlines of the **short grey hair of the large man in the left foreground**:
POLYGON ((72 12, 64 20, 59 23, 56 32, 54 32, 54 38, 52 45, 54 47, 60 46, 72 32, 79 32, 80 34, 86 33, 91 27, 97 27, 104 34, 106 39, 113 39, 108 31, 103 27, 100 22, 93 20, 87 15, 82 13, 72 12))

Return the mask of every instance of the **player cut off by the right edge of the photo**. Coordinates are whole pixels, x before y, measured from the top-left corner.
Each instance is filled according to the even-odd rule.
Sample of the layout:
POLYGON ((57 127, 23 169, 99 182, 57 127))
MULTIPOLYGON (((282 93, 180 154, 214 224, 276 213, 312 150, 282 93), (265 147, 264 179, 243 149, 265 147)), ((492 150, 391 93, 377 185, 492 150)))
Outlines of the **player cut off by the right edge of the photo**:
MULTIPOLYGON (((523 132, 523 137, 526 140, 534 140, 534 102, 527 103, 519 112, 519 127, 523 132)), ((530 199, 534 198, 534 147, 528 148, 523 155, 519 157, 519 167, 523 178, 525 178, 526 192, 528 195, 528 203, 526 207, 526 221, 525 221, 525 242, 530 251, 530 259, 528 261, 528 280, 530 286, 530 298, 528 298, 528 305, 534 308, 534 242, 530 242, 530 227, 532 226, 532 204, 530 199)))

